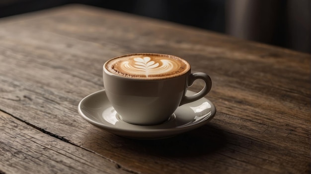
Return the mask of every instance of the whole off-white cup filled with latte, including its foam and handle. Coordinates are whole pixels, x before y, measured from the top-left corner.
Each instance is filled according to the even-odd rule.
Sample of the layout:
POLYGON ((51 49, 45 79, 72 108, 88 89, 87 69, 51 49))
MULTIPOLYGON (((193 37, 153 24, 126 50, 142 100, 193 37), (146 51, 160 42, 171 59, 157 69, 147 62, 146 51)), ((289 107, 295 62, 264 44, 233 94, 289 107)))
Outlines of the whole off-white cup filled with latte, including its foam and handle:
POLYGON ((119 117, 130 124, 157 125, 167 121, 178 106, 204 97, 212 87, 205 73, 191 73, 190 64, 177 56, 157 53, 128 54, 103 66, 107 98, 119 117), (186 96, 197 79, 203 89, 186 96))

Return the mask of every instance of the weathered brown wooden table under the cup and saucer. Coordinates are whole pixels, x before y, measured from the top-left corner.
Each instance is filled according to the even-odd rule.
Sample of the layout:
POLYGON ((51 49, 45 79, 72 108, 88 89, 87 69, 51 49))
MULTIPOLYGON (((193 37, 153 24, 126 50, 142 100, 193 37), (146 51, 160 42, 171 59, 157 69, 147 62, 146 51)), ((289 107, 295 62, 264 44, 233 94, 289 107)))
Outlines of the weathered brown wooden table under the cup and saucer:
POLYGON ((309 174, 310 61, 83 5, 2 18, 0 174, 309 174), (177 55, 209 74, 215 118, 162 140, 123 138, 85 122, 77 106, 103 89, 103 63, 135 52, 177 55))

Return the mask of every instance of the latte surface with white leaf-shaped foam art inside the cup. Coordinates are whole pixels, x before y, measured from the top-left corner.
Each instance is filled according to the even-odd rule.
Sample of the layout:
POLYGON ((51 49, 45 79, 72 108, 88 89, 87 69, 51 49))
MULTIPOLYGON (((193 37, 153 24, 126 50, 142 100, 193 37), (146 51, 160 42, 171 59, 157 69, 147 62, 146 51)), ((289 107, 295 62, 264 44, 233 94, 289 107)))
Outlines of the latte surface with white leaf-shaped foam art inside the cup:
POLYGON ((105 63, 110 73, 134 79, 167 79, 185 74, 190 65, 185 60, 166 54, 131 54, 105 63))

